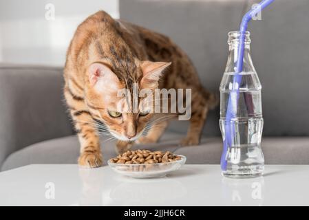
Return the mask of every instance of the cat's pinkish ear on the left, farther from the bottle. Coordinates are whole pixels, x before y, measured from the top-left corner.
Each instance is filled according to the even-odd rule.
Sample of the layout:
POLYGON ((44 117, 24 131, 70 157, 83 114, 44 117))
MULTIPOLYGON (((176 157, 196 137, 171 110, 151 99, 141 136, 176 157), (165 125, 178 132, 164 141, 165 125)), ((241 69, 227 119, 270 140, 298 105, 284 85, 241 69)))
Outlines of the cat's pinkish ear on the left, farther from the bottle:
POLYGON ((103 63, 92 63, 89 70, 89 83, 102 91, 119 89, 120 81, 116 74, 103 63))

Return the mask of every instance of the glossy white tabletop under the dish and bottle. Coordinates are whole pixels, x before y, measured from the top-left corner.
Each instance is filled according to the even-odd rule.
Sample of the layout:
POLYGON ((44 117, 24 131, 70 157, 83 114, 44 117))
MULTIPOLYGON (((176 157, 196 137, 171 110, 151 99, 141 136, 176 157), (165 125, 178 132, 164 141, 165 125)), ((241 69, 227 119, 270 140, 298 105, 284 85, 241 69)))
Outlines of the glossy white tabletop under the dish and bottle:
POLYGON ((185 165, 160 179, 108 166, 30 165, 0 173, 0 205, 308 206, 309 166, 268 165, 264 177, 228 179, 218 165, 185 165))

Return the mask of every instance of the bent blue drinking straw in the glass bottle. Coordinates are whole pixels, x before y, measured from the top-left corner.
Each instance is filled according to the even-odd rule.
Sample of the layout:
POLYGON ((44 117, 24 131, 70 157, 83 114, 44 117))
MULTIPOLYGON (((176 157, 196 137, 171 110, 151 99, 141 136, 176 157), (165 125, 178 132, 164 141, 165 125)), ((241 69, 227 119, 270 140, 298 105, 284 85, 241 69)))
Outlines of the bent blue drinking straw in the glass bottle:
MULTIPOLYGON (((239 98, 239 84, 242 82, 242 75, 239 74, 242 72, 242 66, 244 63, 244 41, 246 30, 248 27, 248 22, 259 12, 264 10, 270 3, 273 3, 275 0, 263 0, 261 1, 255 8, 246 12, 244 17, 242 18, 242 23, 239 28, 239 47, 238 47, 238 59, 236 63, 235 76, 233 78, 233 87, 231 89, 230 96, 228 98, 228 107, 226 111, 226 124, 225 126, 225 137, 223 142, 223 152, 221 156, 221 169, 226 170, 226 153, 228 146, 232 145, 233 134, 235 133, 234 126, 231 127, 231 119, 235 118, 237 111, 237 102, 239 98), (235 98, 233 99, 232 96, 235 98), (234 102, 234 103, 233 103, 234 102), (234 107, 234 108, 233 108, 234 107), (235 110, 235 111, 234 111, 235 110), (231 130, 230 130, 231 129, 231 130)), ((233 125, 233 124, 232 124, 233 125)))

